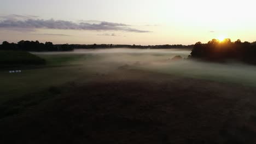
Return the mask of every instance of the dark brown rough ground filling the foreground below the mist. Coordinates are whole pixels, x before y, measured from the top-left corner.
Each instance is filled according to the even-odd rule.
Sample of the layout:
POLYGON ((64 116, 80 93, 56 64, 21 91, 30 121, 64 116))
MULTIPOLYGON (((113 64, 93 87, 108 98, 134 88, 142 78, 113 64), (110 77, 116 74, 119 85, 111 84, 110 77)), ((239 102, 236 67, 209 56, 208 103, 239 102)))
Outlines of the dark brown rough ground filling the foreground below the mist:
POLYGON ((5 102, 24 109, 2 116, 1 143, 256 143, 256 88, 141 70, 96 77, 5 102))

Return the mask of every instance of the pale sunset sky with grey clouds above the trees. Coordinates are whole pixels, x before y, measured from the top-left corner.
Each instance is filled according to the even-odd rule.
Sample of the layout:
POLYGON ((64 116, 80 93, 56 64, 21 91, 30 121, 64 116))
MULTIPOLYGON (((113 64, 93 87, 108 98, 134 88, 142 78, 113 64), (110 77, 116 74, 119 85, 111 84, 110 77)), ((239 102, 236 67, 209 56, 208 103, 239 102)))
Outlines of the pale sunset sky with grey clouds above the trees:
POLYGON ((1 0, 0 43, 195 44, 256 41, 251 0, 1 0))

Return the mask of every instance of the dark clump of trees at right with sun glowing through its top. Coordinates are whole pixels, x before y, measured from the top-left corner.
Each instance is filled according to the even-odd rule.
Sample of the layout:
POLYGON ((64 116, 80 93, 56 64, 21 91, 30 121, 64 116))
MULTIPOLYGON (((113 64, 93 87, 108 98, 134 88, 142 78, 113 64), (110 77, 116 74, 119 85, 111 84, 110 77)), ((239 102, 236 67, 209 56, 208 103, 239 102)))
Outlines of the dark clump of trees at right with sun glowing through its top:
POLYGON ((256 41, 249 43, 241 42, 240 39, 223 41, 212 39, 207 44, 197 42, 190 53, 191 58, 206 61, 225 62, 228 59, 256 64, 256 41))

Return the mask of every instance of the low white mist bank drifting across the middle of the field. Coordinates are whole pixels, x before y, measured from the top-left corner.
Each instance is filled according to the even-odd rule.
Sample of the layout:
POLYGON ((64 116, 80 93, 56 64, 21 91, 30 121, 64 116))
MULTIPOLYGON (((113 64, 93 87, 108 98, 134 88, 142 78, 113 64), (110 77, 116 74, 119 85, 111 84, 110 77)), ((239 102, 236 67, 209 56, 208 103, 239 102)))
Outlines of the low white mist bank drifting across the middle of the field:
MULTIPOLYGON (((189 49, 98 49, 75 50, 72 52, 33 52, 39 56, 72 54, 78 58, 70 64, 82 64, 90 67, 96 73, 106 73, 120 68, 150 70, 158 73, 177 76, 193 77, 219 82, 240 83, 242 85, 256 86, 256 68, 241 62, 227 61, 213 63, 187 59, 189 49), (174 56, 183 59, 173 61, 174 56)), ((46 56, 47 57, 47 56, 46 56)))

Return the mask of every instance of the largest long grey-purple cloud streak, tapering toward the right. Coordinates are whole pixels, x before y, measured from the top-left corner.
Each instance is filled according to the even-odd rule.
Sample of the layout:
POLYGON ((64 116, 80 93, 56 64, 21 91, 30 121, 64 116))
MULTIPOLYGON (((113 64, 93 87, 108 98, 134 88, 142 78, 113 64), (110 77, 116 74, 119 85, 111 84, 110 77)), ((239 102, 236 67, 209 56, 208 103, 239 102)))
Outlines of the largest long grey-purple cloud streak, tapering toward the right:
POLYGON ((0 28, 26 28, 26 29, 73 29, 87 31, 125 31, 136 33, 148 33, 124 23, 114 23, 106 21, 98 22, 72 22, 64 20, 43 20, 35 19, 33 16, 9 15, 0 17, 0 28))

